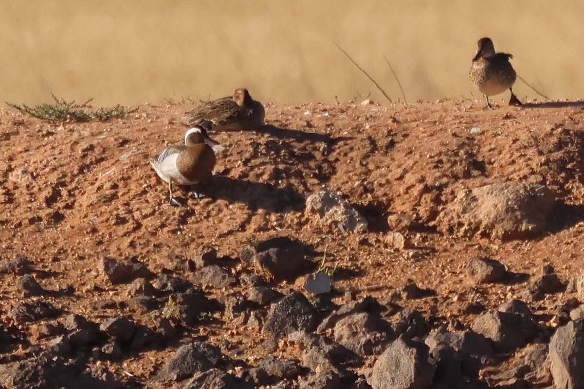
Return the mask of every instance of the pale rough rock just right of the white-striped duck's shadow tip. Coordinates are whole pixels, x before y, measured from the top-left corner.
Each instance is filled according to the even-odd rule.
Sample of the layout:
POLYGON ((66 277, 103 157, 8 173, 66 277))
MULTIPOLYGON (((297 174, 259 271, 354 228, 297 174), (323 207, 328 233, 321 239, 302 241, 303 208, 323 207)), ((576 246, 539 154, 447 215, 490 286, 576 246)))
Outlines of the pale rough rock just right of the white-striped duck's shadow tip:
POLYGON ((328 188, 306 199, 305 213, 316 213, 323 222, 335 225, 343 232, 367 231, 367 219, 328 188))

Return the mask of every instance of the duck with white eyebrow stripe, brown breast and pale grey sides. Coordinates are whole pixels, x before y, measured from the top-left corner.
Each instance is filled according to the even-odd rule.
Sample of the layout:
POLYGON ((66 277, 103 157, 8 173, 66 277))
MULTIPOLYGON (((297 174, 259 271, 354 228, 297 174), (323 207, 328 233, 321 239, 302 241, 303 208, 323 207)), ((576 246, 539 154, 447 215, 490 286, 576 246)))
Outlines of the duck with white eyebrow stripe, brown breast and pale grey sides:
MULTIPOLYGON (((170 203, 180 205, 172 195, 172 184, 194 185, 206 182, 213 174, 215 167, 214 149, 221 146, 209 138, 208 129, 213 125, 203 121, 185 133, 185 144, 174 145, 164 149, 157 159, 151 158, 150 165, 158 177, 168 183, 170 203)), ((199 193, 195 192, 199 198, 199 193)))

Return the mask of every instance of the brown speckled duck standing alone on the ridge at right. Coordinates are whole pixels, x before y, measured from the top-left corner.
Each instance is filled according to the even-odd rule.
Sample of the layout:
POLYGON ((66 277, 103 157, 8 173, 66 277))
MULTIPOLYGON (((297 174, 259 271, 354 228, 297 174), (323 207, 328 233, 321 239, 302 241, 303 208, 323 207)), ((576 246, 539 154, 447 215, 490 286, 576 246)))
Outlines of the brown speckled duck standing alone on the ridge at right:
POLYGON ((517 79, 517 73, 513 69, 511 62, 509 62, 513 55, 496 52, 495 45, 489 37, 479 39, 477 45, 477 54, 472 58, 472 66, 468 77, 472 85, 484 94, 486 99, 485 108, 493 108, 489 102, 489 96, 503 93, 507 89, 511 92, 509 105, 522 105, 512 89, 517 79))

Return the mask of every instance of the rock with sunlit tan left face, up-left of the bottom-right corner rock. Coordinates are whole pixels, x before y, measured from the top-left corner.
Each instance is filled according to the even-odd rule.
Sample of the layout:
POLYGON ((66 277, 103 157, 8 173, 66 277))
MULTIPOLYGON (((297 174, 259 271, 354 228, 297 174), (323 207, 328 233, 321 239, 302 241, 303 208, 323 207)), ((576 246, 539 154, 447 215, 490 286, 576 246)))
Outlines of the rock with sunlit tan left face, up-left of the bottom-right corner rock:
POLYGON ((497 351, 510 352, 533 339, 537 325, 518 313, 489 311, 472 322, 472 330, 495 342, 497 351))

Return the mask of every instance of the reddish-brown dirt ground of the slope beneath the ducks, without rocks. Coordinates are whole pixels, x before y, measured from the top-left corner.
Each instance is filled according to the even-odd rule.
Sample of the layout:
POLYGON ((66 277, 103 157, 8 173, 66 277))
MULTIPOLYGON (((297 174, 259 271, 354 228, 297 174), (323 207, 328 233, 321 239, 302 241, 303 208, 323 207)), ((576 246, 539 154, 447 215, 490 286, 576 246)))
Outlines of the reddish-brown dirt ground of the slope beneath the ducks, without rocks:
MULTIPOLYGON (((567 281, 584 264, 584 221, 578 212, 561 215, 552 232, 533 240, 463 239, 436 232, 437 215, 463 188, 536 182, 548 185, 568 205, 582 204, 584 107, 566 102, 482 110, 483 105, 470 100, 267 104, 271 127, 212 135, 225 147, 208 184, 217 196, 197 200, 177 191, 186 202, 183 207, 168 204, 168 189, 148 157, 182 141, 185 128, 178 119, 190 106, 146 105, 121 120, 88 123, 53 123, 2 109, 2 257, 25 254, 45 289, 73 286, 73 296, 47 297, 65 311, 98 323, 129 316, 151 325, 150 313, 96 308, 100 300, 127 299, 127 286, 112 285, 103 274, 103 257, 135 257, 157 274, 166 268, 189 279, 192 274, 173 269, 200 247, 213 246, 219 255, 238 258, 248 243, 291 236, 321 255, 326 251, 325 265, 338 267, 335 288, 357 288, 357 296, 383 300, 412 279, 437 296, 399 304, 436 322, 457 317, 468 325, 475 317, 463 313, 468 303, 496 307, 522 298, 528 285, 477 286, 465 270, 474 255, 489 255, 532 279, 543 265, 552 264, 567 281), (295 199, 323 185, 341 192, 366 216, 369 232, 343 233, 304 213, 295 199), (394 231, 404 233, 409 246, 392 247, 386 236, 394 231), (370 285, 382 287, 359 292, 370 285)), ((238 262, 234 259, 232 267, 236 278, 249 272, 238 262)), ((22 299, 17 281, 13 275, 0 279, 6 325, 12 323, 6 312, 22 299)), ((206 292, 220 297, 242 288, 206 292)), ((293 281, 276 288, 303 290, 301 282, 293 281)), ((557 325, 556 309, 570 297, 548 295, 530 306, 550 314, 547 324, 557 325)), ((333 301, 346 303, 347 298, 340 293, 333 301)), ((20 330, 32 337, 34 325, 20 330)), ((240 351, 228 355, 250 365, 266 356, 266 334, 223 321, 220 314, 187 336, 214 344, 228 339, 240 351)), ((143 352, 107 365, 145 383, 174 351, 143 352)), ((20 349, 5 359, 28 354, 20 349)), ((280 342, 275 354, 300 358, 287 342, 280 342)))

